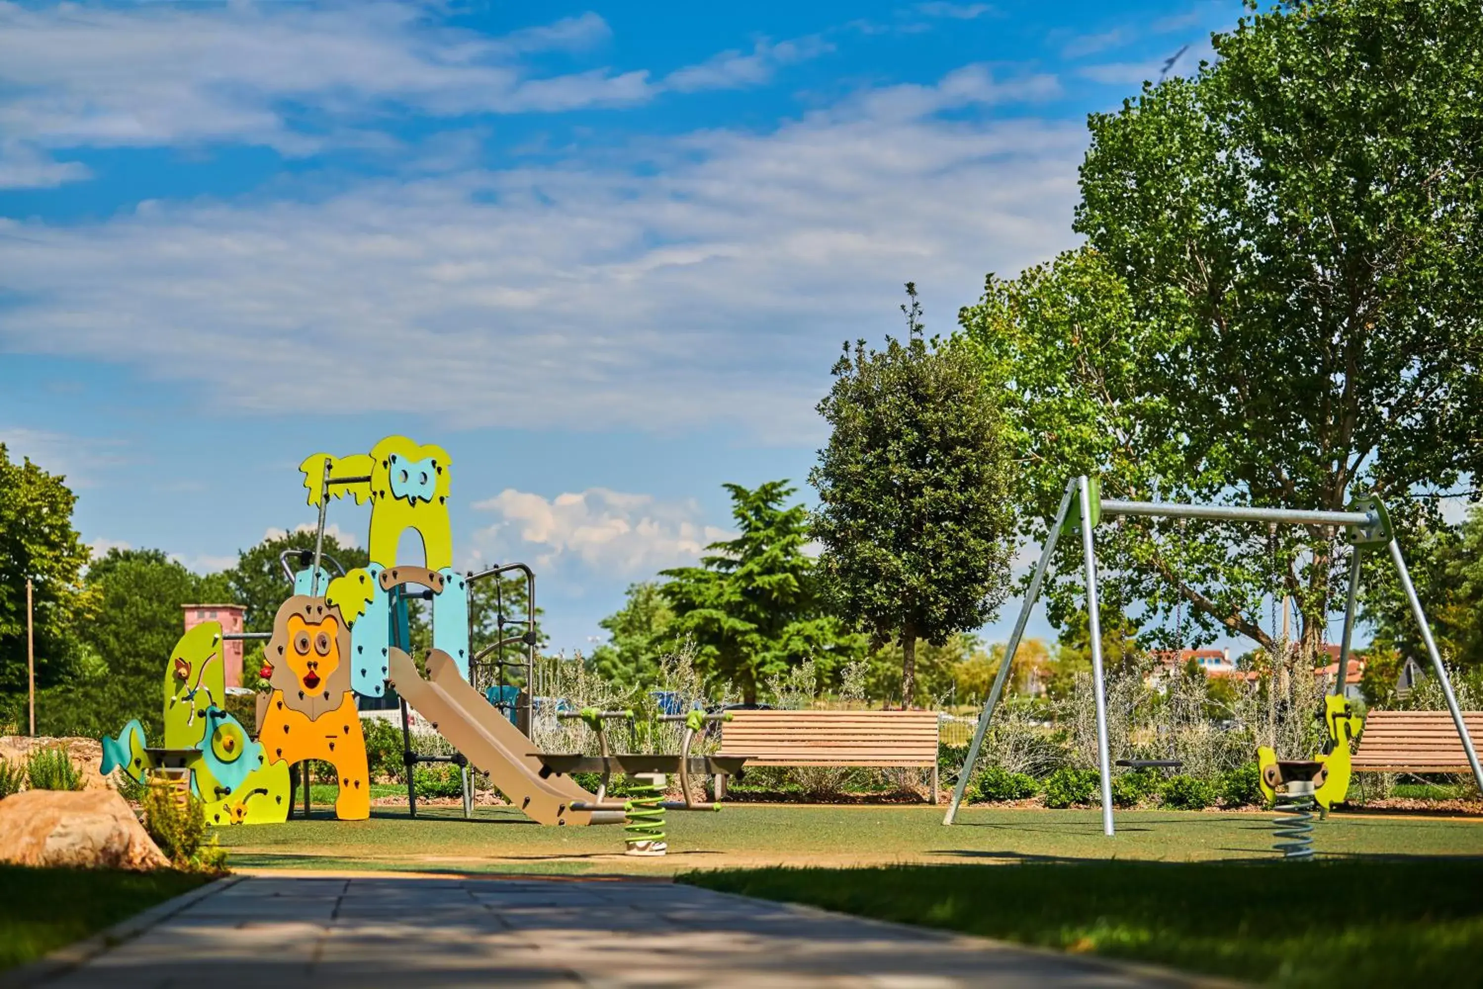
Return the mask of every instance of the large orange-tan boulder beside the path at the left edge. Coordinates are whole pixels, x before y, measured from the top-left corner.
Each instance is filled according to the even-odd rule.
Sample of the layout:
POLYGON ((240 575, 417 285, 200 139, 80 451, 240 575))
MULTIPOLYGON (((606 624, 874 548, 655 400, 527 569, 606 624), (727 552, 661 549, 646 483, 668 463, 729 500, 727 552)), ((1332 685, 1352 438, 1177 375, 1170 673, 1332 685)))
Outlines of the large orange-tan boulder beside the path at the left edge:
POLYGON ((0 801, 0 860, 21 866, 171 864, 117 792, 25 790, 0 801))

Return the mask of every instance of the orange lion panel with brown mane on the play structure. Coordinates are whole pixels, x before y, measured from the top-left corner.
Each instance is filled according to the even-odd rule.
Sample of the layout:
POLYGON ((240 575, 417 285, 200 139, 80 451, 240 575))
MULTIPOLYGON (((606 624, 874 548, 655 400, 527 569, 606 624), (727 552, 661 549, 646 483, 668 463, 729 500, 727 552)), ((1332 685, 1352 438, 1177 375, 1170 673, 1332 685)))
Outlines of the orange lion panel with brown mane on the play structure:
POLYGON ((289 598, 279 605, 262 654, 273 694, 258 741, 268 762, 332 762, 340 780, 335 816, 371 817, 366 741, 350 691, 350 629, 340 608, 323 598, 289 598))

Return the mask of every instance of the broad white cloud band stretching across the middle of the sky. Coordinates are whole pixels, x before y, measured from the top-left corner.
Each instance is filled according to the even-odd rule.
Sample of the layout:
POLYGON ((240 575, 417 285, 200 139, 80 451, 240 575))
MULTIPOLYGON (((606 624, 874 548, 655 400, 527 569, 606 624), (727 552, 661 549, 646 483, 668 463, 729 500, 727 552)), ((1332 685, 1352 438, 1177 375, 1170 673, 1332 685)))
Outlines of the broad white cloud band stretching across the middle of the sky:
POLYGON ((117 362, 239 411, 323 380, 455 426, 813 442, 839 341, 896 331, 902 282, 946 331, 985 271, 1074 243, 1081 126, 940 116, 1054 90, 970 65, 627 159, 0 219, 0 351, 117 362))

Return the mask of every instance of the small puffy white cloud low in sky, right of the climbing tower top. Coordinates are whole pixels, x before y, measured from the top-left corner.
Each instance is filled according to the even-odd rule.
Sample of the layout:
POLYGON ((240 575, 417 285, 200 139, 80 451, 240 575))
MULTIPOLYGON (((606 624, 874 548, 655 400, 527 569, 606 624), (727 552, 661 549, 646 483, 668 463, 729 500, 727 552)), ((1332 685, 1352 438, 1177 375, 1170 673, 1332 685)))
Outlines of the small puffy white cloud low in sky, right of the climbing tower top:
POLYGON ((650 575, 693 563, 709 543, 730 535, 706 525, 694 501, 607 488, 555 498, 507 488, 473 507, 498 517, 475 532, 476 558, 528 558, 537 571, 562 571, 577 562, 604 574, 650 575))

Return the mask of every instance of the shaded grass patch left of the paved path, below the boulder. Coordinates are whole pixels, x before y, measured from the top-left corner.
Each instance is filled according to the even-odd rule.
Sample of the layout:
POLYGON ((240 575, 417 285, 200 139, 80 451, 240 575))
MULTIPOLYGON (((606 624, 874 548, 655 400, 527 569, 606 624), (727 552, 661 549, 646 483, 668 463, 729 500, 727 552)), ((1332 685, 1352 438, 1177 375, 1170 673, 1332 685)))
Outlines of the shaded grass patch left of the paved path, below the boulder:
POLYGON ((0 968, 40 958, 205 881, 174 870, 0 866, 0 968))

